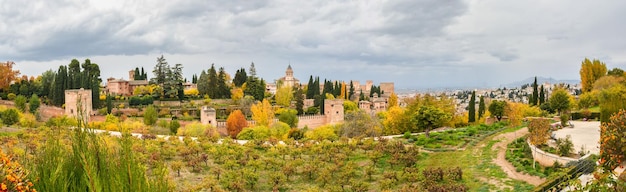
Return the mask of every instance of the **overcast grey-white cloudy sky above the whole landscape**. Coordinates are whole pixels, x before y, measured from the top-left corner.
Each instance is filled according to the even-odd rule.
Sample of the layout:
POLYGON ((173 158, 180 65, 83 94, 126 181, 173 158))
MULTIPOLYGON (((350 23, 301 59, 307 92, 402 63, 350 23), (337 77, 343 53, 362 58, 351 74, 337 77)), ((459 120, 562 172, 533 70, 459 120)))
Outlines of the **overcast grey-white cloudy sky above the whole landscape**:
MULTIPOLYGON (((597 58, 626 68, 626 1, 0 0, 0 60, 22 74, 89 58, 102 78, 152 71, 163 54, 185 76, 254 62, 273 81, 395 82, 397 88, 579 79, 597 58)), ((149 73, 149 77, 151 77, 149 73)), ((530 82, 529 82, 530 83, 530 82)))

